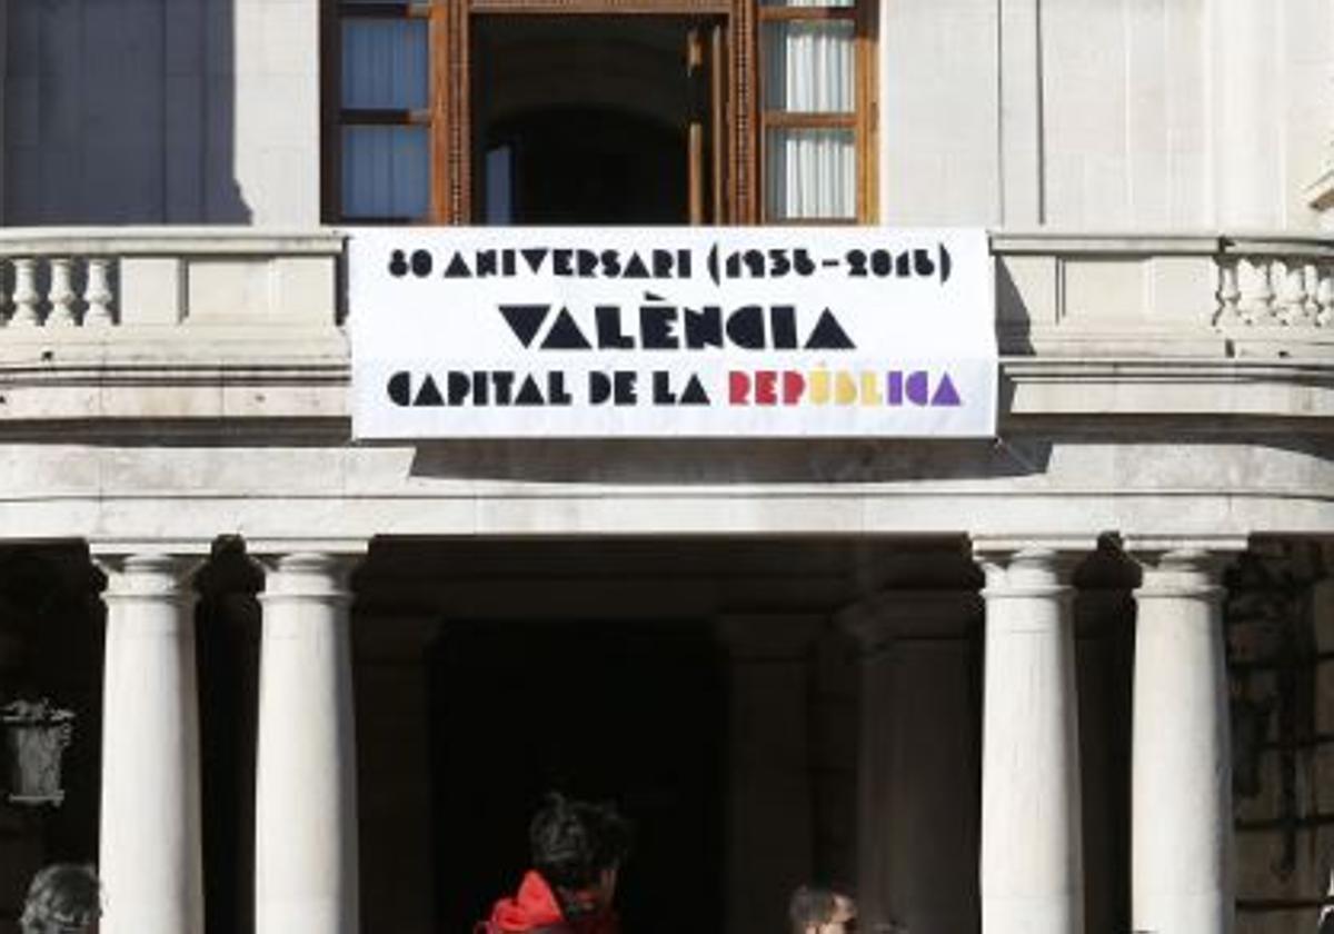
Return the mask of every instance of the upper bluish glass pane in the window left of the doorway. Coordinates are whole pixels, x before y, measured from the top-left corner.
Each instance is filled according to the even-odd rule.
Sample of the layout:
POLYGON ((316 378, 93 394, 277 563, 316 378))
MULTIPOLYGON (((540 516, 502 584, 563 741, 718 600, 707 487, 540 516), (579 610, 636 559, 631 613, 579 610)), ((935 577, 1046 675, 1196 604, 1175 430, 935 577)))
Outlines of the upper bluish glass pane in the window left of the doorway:
POLYGON ((427 105, 424 20, 343 20, 343 107, 427 105))

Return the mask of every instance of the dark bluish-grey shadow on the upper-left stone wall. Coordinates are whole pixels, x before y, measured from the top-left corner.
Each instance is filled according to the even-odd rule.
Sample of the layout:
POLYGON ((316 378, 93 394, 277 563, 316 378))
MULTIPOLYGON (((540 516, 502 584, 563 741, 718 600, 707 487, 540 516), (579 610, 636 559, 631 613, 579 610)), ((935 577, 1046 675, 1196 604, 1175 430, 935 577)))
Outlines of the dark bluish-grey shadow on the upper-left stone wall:
POLYGON ((0 220, 249 223, 233 3, 9 4, 0 220))

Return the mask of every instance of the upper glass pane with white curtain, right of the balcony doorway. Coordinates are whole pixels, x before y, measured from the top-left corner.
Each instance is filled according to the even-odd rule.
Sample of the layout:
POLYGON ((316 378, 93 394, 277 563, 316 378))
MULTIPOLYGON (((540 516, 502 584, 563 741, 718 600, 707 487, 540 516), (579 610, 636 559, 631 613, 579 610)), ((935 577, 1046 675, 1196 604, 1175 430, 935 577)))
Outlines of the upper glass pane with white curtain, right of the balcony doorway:
POLYGON ((766 109, 852 112, 855 48, 847 20, 766 23, 766 109))

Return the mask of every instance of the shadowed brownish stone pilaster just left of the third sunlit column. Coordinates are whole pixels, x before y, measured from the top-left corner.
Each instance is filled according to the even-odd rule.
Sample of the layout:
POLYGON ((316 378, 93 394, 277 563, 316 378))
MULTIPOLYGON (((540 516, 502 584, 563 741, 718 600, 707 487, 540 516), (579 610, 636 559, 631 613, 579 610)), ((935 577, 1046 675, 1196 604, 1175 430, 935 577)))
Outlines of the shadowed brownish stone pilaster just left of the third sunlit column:
POLYGON ((976 925, 976 594, 886 591, 839 616, 860 659, 858 901, 864 926, 976 925), (924 715, 926 711, 930 711, 924 715))

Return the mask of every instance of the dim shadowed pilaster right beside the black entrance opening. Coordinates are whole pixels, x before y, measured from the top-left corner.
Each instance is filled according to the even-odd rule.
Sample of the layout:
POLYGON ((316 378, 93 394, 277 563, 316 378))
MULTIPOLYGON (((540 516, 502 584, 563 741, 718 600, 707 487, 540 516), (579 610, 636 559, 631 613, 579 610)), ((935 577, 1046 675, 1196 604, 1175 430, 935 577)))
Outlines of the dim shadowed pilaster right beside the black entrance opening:
POLYGON ((787 925, 792 889, 811 878, 811 655, 820 620, 728 616, 718 622, 728 667, 726 930, 787 925))

